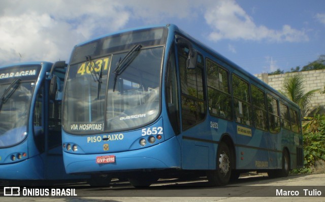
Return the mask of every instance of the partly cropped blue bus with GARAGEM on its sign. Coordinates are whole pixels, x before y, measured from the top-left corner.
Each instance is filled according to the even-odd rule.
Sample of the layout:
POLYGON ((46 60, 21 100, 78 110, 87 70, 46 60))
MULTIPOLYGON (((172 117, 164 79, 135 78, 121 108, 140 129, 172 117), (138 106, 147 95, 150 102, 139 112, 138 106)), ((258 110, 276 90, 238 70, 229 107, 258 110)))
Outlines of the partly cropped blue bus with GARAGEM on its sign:
POLYGON ((66 70, 64 61, 0 67, 0 181, 76 178, 66 174, 62 158, 66 70))

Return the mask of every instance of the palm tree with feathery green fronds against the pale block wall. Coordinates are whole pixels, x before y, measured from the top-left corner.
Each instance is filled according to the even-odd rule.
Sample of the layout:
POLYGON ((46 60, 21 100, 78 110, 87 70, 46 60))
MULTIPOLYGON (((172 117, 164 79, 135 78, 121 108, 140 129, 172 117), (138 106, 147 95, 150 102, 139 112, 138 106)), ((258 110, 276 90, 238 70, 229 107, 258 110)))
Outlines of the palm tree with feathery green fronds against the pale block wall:
POLYGON ((310 99, 317 91, 319 89, 310 90, 305 93, 304 77, 301 73, 298 73, 284 79, 282 91, 280 92, 300 107, 302 118, 304 118, 311 111, 310 99))

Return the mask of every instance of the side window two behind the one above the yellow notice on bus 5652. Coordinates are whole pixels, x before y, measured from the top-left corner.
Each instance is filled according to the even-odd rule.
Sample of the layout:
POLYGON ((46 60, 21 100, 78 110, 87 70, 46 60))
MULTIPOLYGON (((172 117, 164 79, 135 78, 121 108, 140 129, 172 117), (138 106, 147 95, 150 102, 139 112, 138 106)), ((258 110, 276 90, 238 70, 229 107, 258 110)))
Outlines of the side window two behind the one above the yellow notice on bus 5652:
POLYGON ((280 132, 280 116, 278 112, 279 103, 278 100, 268 94, 268 112, 269 112, 269 125, 270 132, 280 132))

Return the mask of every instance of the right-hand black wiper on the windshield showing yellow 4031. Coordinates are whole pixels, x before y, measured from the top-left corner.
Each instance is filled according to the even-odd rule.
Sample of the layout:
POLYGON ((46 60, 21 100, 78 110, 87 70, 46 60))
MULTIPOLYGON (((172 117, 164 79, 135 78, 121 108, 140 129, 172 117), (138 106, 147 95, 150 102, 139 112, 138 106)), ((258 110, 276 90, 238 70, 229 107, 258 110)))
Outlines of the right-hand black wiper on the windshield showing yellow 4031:
POLYGON ((132 60, 134 60, 134 58, 136 58, 135 53, 137 53, 140 49, 142 48, 142 46, 140 44, 136 44, 130 51, 128 51, 128 53, 123 57, 123 59, 119 60, 118 64, 116 65, 116 68, 114 70, 114 85, 113 85, 113 92, 115 91, 115 85, 116 85, 116 80, 117 80, 117 76, 121 75, 124 70, 127 68, 127 66, 132 62, 132 60))

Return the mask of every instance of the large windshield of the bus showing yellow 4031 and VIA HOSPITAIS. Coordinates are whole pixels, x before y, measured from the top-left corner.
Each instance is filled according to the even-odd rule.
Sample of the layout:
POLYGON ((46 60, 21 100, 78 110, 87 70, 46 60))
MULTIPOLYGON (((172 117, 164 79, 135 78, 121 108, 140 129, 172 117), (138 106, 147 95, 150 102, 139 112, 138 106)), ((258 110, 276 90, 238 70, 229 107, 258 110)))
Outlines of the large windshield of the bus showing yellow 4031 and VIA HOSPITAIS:
POLYGON ((80 62, 68 69, 63 129, 75 134, 113 132, 155 120, 160 112, 165 43, 164 29, 160 28, 90 42, 91 47, 113 52, 92 50, 82 58, 81 53, 89 53, 89 44, 77 47, 72 61, 80 62))

